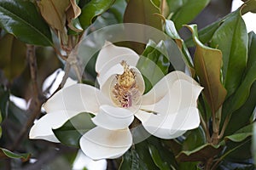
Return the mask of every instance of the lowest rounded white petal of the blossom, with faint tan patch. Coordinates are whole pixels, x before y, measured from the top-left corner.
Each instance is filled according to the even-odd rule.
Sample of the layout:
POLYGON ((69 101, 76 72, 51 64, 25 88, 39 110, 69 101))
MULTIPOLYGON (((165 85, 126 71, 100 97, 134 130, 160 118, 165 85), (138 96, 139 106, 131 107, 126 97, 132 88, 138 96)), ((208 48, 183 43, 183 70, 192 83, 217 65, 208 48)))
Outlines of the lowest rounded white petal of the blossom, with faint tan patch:
POLYGON ((129 150, 131 144, 129 128, 113 131, 95 127, 80 139, 81 150, 93 160, 118 158, 129 150))

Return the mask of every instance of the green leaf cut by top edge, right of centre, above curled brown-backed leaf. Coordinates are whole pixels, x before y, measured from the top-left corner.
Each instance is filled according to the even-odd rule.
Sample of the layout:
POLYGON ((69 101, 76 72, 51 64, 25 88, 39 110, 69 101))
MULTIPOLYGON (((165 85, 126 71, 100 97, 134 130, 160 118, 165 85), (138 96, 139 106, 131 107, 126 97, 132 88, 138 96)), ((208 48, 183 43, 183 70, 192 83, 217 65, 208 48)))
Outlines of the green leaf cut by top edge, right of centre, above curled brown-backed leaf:
POLYGON ((195 16, 199 14, 210 2, 210 0, 183 0, 178 3, 176 0, 169 1, 171 11, 173 11, 172 4, 175 3, 173 6, 176 10, 173 11, 171 20, 175 23, 177 30, 179 30, 184 24, 188 24, 193 20, 195 16))

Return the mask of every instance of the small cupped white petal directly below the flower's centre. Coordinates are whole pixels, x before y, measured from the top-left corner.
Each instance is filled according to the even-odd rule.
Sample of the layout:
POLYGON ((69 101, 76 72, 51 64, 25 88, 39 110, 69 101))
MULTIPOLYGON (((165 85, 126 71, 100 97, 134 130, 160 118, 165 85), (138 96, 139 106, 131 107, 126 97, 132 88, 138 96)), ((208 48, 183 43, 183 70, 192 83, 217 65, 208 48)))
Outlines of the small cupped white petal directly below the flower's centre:
POLYGON ((129 127, 133 119, 133 113, 127 109, 101 105, 100 111, 91 120, 99 127, 118 130, 129 127))

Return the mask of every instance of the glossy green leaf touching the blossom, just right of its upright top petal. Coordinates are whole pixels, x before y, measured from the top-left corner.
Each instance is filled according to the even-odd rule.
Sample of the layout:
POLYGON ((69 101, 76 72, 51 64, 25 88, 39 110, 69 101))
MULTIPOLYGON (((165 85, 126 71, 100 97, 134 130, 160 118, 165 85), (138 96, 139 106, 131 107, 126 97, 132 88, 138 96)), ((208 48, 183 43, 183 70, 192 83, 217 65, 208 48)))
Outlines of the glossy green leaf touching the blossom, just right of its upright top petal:
POLYGON ((137 62, 137 68, 141 71, 145 80, 145 93, 168 73, 169 65, 170 62, 164 42, 155 44, 155 42, 149 41, 137 62))

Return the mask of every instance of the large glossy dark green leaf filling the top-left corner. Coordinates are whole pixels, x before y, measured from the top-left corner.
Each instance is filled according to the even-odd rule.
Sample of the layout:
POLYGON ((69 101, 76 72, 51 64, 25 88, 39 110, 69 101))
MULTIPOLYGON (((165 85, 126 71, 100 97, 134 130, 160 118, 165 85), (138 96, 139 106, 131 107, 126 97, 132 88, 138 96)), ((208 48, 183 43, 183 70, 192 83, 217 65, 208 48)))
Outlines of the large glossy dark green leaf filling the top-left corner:
POLYGON ((49 26, 29 1, 0 1, 0 26, 23 42, 41 46, 52 46, 49 26))

